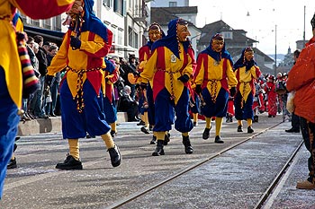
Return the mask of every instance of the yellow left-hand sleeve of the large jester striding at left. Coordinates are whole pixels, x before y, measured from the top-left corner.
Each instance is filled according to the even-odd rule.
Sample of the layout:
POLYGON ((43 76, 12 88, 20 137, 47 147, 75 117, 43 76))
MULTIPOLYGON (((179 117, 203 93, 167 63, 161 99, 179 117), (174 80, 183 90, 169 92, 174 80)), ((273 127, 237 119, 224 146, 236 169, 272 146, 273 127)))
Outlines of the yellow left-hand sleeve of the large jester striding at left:
POLYGON ((64 69, 67 65, 67 33, 55 57, 52 58, 51 64, 47 68, 49 75, 54 75, 64 69))

